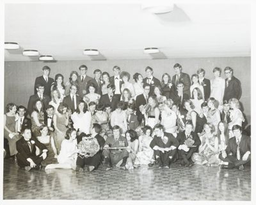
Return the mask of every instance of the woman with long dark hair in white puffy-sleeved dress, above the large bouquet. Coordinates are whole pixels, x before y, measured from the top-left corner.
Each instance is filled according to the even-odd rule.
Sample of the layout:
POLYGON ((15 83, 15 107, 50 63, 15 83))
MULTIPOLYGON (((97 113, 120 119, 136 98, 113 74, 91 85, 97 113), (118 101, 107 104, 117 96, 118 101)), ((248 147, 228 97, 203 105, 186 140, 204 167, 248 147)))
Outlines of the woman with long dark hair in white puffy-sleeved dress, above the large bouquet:
POLYGON ((71 115, 71 119, 74 128, 79 130, 79 135, 82 132, 86 135, 90 134, 92 114, 88 111, 87 104, 83 100, 79 102, 78 109, 71 115))

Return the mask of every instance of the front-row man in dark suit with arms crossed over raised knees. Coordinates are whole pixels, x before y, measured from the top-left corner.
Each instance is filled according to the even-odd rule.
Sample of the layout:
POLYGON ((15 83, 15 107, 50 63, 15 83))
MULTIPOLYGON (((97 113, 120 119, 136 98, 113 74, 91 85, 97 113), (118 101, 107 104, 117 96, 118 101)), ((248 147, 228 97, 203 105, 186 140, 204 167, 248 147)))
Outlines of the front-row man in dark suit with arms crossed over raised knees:
POLYGON ((170 163, 176 160, 179 141, 171 133, 164 132, 160 124, 155 125, 154 133, 156 135, 150 142, 150 148, 154 150, 157 167, 170 168, 170 163))

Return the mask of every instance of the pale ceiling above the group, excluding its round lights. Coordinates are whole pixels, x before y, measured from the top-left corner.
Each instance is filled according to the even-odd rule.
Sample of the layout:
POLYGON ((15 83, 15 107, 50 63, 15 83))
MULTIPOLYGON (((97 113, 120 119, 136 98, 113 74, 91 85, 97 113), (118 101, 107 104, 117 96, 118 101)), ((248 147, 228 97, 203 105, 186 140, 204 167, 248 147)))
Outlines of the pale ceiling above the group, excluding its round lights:
POLYGON ((6 4, 5 61, 37 61, 22 56, 36 49, 55 60, 164 59, 250 56, 250 4, 175 4, 156 15, 130 4, 6 4), (159 54, 144 54, 157 47, 159 54), (98 49, 99 56, 84 56, 98 49))

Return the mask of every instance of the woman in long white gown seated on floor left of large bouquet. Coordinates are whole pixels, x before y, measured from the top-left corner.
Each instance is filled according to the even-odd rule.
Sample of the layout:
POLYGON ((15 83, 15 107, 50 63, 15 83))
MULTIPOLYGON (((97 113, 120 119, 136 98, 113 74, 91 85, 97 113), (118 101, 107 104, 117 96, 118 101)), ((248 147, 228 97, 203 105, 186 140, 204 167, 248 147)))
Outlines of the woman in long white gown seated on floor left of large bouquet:
POLYGON ((72 169, 76 166, 77 151, 76 129, 69 128, 61 143, 60 155, 57 157, 58 163, 49 164, 45 169, 72 169))

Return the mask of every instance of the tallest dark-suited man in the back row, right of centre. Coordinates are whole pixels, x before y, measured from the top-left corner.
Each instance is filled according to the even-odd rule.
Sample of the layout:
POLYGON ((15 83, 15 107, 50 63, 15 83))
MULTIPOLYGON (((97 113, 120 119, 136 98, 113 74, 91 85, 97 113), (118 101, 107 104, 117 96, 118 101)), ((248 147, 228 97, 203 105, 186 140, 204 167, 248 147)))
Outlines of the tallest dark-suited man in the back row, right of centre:
POLYGON ((175 87, 177 87, 178 82, 183 82, 184 84, 184 93, 189 96, 190 98, 190 77, 187 73, 182 73, 182 66, 179 63, 176 63, 173 66, 173 69, 175 71, 175 75, 172 77, 172 83, 175 87))

